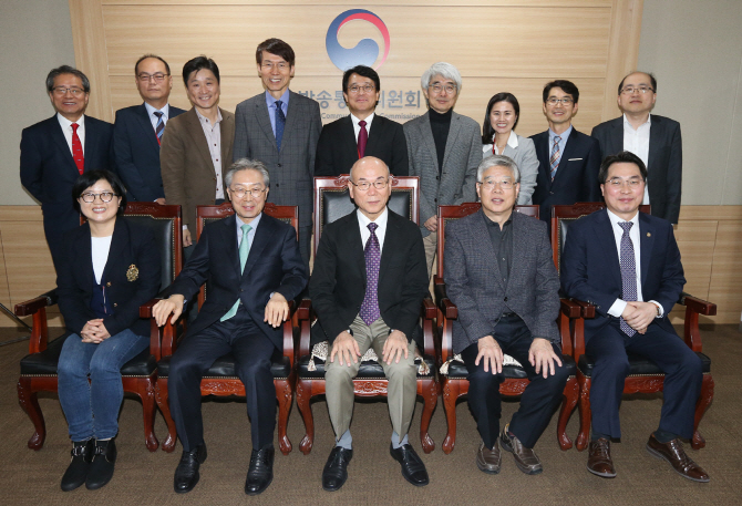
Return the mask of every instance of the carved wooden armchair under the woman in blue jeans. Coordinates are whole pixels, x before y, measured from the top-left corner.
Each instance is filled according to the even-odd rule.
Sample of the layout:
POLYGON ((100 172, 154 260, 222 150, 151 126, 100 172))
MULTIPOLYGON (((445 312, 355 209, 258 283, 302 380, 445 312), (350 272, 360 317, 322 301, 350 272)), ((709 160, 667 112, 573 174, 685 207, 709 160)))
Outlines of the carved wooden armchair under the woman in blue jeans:
MULTIPOLYGON (((183 266, 181 206, 161 206, 153 203, 130 203, 124 213, 127 219, 136 220, 152 228, 161 250, 162 285, 167 287, 181 272, 183 266)), ((35 299, 16 304, 19 317, 33 316, 33 330, 29 343, 29 354, 21 359, 21 376, 18 380, 18 400, 33 422, 34 432, 29 440, 29 448, 40 450, 47 437, 44 417, 37 399, 38 392, 56 392, 56 363, 65 332, 49 342, 47 329, 47 307, 56 303, 56 290, 35 299)), ((154 303, 153 301, 150 304, 154 303)), ((130 360, 121 369, 124 392, 137 395, 144 412, 144 438, 151 452, 159 442, 155 436, 155 382, 159 359, 159 330, 151 328, 150 349, 130 360)))

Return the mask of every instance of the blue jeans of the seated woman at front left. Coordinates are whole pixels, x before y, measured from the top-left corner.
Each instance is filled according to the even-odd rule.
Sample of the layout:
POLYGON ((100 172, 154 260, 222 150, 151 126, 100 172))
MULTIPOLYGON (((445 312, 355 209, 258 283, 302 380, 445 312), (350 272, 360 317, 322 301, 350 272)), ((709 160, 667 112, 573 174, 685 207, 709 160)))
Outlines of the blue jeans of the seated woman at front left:
POLYGON ((78 334, 64 341, 56 365, 58 390, 72 441, 116 435, 124 399, 121 368, 148 344, 148 337, 128 329, 100 344, 82 342, 78 334))

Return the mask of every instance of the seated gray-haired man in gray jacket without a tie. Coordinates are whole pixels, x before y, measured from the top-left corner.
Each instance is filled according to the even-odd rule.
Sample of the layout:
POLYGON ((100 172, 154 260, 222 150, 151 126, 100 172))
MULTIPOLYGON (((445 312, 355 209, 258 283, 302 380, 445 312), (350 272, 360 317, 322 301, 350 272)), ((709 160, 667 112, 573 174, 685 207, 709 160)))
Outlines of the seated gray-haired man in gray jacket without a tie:
POLYGON ((503 353, 523 364, 530 383, 499 444, 526 474, 543 471, 533 447, 561 400, 569 375, 559 350, 556 318, 559 279, 546 224, 514 211, 521 174, 512 158, 489 156, 477 169, 482 210, 446 228, 445 281, 458 307, 453 351, 468 371, 468 406, 482 436, 476 465, 501 466, 499 383, 503 353), (495 276, 493 276, 495 275, 495 276))

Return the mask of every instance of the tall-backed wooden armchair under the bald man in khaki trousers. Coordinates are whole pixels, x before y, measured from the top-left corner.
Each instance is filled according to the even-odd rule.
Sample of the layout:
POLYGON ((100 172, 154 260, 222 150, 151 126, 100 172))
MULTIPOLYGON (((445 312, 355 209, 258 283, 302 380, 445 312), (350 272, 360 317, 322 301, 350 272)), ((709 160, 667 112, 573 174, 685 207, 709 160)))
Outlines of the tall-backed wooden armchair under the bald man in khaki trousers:
MULTIPOLYGON (((394 177, 389 208, 418 223, 418 177, 394 177)), ((348 175, 339 177, 315 178, 315 241, 317 251, 322 227, 355 210, 355 205, 348 195, 348 175)), ((306 311, 310 311, 309 300, 302 301, 306 311)), ((425 299, 422 307, 423 350, 422 364, 418 372, 418 395, 423 399, 423 413, 420 423, 420 440, 423 451, 430 453, 435 443, 427 433, 433 410, 437 403, 439 383, 434 370, 433 319, 435 306, 425 299)), ((315 421, 311 412, 311 399, 324 394, 324 362, 312 358, 309 326, 301 328, 298 359, 297 405, 305 422, 306 434, 299 448, 303 454, 311 452, 315 443, 315 421), (310 365, 310 363, 312 365, 310 365)), ((353 380, 354 393, 360 397, 387 396, 387 378, 383 369, 375 361, 363 361, 358 376, 353 380)))

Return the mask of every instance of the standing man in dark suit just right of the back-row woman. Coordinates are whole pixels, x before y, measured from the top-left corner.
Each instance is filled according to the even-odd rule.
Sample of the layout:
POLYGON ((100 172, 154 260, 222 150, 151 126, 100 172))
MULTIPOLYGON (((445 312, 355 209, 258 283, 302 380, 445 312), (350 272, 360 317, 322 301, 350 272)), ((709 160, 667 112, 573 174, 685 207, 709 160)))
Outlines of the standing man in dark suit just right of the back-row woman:
POLYGON ((533 203, 547 224, 552 206, 600 202, 598 143, 571 125, 577 114, 579 90, 570 81, 557 80, 544 86, 544 115, 549 128, 532 135, 538 157, 538 178, 533 203))

